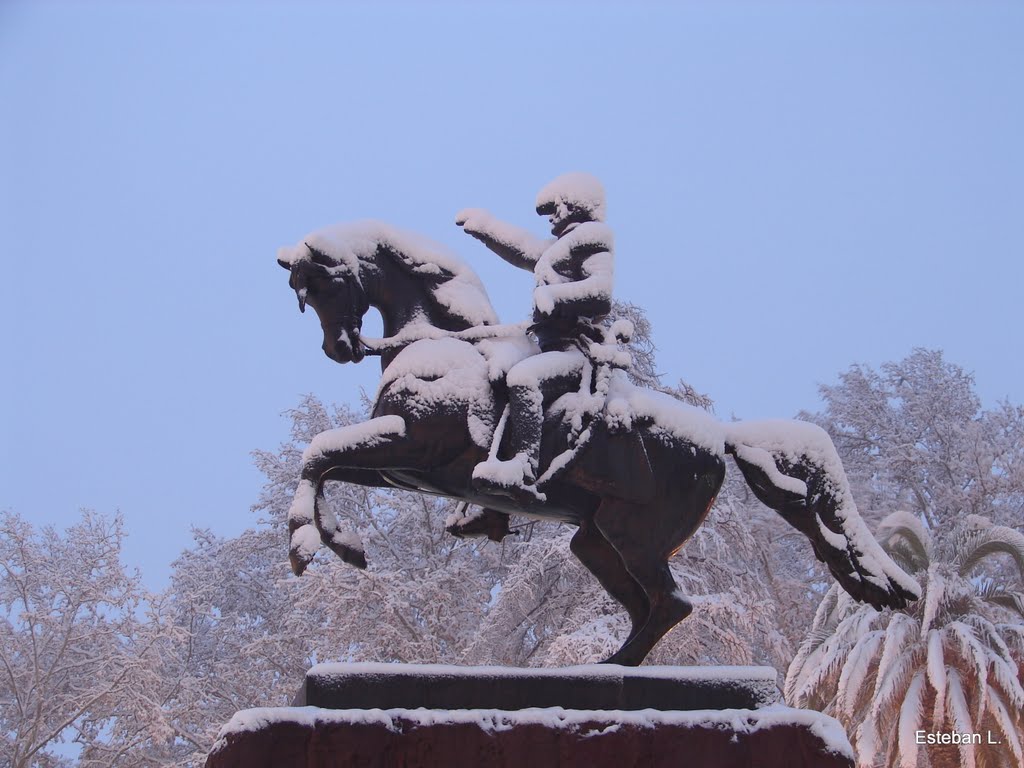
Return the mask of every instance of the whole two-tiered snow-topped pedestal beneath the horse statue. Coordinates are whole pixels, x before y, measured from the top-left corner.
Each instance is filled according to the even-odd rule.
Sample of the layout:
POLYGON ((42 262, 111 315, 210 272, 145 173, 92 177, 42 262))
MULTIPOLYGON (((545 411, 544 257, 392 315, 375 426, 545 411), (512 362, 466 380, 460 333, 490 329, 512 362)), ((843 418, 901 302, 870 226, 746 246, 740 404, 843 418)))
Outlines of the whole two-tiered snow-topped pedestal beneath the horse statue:
POLYGON ((330 665, 296 707, 245 710, 208 768, 850 768, 842 727, 769 668, 330 665))

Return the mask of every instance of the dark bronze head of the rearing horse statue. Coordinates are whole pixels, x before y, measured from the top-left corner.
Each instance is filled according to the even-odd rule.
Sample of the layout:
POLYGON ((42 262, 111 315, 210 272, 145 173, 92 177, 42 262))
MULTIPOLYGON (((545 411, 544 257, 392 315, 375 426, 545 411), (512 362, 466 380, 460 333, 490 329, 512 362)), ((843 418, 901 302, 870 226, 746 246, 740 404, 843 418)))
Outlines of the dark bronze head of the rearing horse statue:
POLYGON ((324 330, 324 353, 336 362, 358 362, 366 355, 359 341, 370 302, 357 262, 336 259, 306 243, 283 248, 278 263, 291 272, 288 285, 299 299, 299 311, 311 306, 324 330))

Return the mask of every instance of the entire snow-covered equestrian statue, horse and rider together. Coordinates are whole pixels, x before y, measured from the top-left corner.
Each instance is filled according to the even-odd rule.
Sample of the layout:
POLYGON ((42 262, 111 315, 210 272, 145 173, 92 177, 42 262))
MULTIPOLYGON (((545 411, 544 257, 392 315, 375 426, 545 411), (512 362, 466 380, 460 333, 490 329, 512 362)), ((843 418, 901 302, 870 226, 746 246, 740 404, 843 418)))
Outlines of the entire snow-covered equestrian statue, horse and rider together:
POLYGON ((532 325, 498 324, 486 291, 458 256, 380 222, 344 224, 283 248, 299 308, 311 306, 338 362, 381 358, 372 418, 316 435, 289 511, 292 568, 322 546, 358 567, 358 537, 323 504, 328 480, 437 494, 464 502, 449 529, 500 539, 507 516, 578 526, 571 551, 629 613, 607 662, 638 665, 692 610, 669 558, 703 521, 732 456, 754 494, 804 534, 854 598, 902 607, 920 588, 857 513, 836 449, 802 422, 720 423, 633 385, 618 342, 602 331, 612 290, 611 232, 593 177, 560 176, 538 212, 554 240, 479 210, 457 217, 510 263, 534 271, 532 325), (385 338, 361 336, 376 307, 385 338), (530 333, 530 331, 532 333, 530 333), (466 513, 469 505, 479 511, 466 513))

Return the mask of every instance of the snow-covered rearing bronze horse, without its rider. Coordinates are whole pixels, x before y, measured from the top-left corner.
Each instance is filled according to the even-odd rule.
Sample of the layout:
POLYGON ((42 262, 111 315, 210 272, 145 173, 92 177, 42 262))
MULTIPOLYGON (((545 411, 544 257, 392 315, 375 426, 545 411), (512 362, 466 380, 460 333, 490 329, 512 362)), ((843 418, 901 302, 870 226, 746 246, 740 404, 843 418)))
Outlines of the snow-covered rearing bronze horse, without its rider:
MULTIPOLYGON (((607 663, 639 665, 692 610, 669 558, 707 517, 725 454, 754 494, 811 542, 854 598, 902 607, 920 588, 860 519, 828 436, 802 422, 724 424, 595 362, 595 392, 554 392, 545 409, 546 500, 485 496, 473 468, 502 452, 504 372, 537 347, 520 326, 498 326, 475 273, 440 246, 381 223, 322 229, 279 252, 300 309, 311 306, 337 362, 381 357, 372 418, 317 435, 303 456, 289 513, 292 568, 325 545, 366 567, 356 538, 321 503, 328 480, 398 486, 578 526, 571 551, 629 613, 632 629, 607 663), (383 341, 360 337, 376 307, 383 341), (376 349, 375 349, 376 347, 376 349), (580 403, 591 402, 591 407, 580 403), (567 459, 566 459, 567 457, 567 459), (549 466, 554 462, 558 466, 549 466)), ((540 482, 540 481, 539 481, 540 482)))

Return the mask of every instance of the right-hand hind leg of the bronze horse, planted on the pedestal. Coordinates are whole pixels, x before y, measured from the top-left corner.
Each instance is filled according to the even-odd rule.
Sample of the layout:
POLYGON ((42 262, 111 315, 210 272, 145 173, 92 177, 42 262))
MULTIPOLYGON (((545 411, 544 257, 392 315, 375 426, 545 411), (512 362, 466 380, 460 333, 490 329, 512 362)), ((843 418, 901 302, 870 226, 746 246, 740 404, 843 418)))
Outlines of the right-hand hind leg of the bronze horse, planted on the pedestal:
MULTIPOLYGON (((647 507, 656 512, 658 507, 647 507)), ((643 590, 649 607, 646 621, 605 664, 636 667, 665 635, 688 616, 693 605, 679 590, 669 568, 670 551, 656 525, 643 524, 645 515, 635 505, 606 499, 594 515, 594 521, 614 547, 630 575, 643 590)), ((648 518, 649 519, 649 518, 648 518)))

